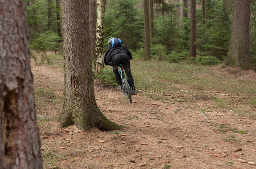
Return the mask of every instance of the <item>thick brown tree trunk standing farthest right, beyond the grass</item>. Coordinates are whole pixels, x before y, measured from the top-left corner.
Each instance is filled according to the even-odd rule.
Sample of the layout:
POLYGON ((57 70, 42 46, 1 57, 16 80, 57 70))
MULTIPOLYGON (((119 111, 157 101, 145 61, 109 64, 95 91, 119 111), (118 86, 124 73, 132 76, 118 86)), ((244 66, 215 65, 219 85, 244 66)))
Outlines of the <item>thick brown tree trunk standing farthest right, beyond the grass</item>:
POLYGON ((224 64, 248 66, 251 63, 249 55, 250 1, 234 0, 233 5, 230 45, 224 64))

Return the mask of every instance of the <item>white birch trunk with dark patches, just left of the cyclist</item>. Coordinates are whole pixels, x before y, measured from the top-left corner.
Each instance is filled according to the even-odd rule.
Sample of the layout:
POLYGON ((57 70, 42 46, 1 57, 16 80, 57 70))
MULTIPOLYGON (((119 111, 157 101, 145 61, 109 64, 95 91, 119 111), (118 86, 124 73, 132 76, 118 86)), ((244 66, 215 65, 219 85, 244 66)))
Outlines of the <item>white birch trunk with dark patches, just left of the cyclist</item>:
POLYGON ((105 15, 106 0, 97 0, 97 29, 96 29, 96 50, 95 50, 95 63, 94 73, 100 73, 103 69, 104 53, 103 53, 103 28, 104 28, 104 15, 105 15))

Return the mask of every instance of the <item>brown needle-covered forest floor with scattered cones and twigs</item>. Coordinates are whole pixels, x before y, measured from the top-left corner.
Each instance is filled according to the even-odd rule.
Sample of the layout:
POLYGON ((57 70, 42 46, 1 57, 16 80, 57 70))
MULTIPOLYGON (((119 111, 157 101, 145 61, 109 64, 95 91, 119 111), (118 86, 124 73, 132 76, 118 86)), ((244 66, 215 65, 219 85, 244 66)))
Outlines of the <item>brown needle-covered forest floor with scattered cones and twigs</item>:
MULTIPOLYGON (((63 60, 50 65, 31 60, 31 69, 45 169, 255 168, 250 162, 256 162, 256 109, 240 104, 239 96, 169 82, 178 90, 161 97, 138 92, 129 104, 121 92, 102 88, 95 80, 97 105, 124 129, 81 131, 76 126, 60 128, 57 123, 63 108, 63 60), (198 96, 204 97, 193 99, 198 96), (221 105, 225 101, 231 106, 221 105), (250 113, 241 114, 238 109, 250 113)), ((238 74, 256 81, 253 71, 234 75, 227 68, 206 69, 226 78, 238 74)), ((255 92, 256 86, 251 90, 255 92)))

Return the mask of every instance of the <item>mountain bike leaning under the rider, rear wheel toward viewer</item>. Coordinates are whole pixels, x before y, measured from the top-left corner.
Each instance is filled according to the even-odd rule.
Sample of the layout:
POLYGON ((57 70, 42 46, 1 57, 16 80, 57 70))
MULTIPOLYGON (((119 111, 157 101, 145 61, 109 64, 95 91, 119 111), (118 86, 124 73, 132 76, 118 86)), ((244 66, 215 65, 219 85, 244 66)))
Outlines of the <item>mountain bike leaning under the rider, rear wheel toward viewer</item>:
POLYGON ((125 77, 124 74, 124 69, 123 69, 123 65, 120 64, 119 65, 119 70, 118 70, 120 77, 122 78, 122 91, 123 91, 123 95, 125 96, 125 98, 129 101, 129 103, 131 104, 131 88, 129 86, 129 83, 127 81, 127 78, 125 77))

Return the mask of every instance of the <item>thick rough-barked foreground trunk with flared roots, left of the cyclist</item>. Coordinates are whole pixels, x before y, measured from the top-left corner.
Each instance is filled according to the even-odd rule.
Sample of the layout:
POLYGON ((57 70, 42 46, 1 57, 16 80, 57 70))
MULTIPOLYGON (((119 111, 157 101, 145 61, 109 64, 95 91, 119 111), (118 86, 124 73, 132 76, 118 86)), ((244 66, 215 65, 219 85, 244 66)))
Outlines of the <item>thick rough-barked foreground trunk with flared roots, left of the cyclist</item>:
POLYGON ((89 1, 62 0, 64 50, 64 105, 60 126, 114 130, 121 127, 99 110, 94 96, 89 35, 89 1))

